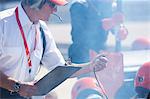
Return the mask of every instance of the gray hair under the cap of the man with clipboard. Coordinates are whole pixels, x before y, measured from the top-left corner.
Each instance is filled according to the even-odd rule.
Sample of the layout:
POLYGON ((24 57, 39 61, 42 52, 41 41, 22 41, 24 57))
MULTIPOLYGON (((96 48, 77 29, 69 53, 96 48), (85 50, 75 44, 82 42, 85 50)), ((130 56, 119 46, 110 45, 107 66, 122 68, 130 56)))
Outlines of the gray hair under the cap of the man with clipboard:
POLYGON ((22 0, 23 5, 29 5, 31 8, 41 9, 46 0, 22 0))

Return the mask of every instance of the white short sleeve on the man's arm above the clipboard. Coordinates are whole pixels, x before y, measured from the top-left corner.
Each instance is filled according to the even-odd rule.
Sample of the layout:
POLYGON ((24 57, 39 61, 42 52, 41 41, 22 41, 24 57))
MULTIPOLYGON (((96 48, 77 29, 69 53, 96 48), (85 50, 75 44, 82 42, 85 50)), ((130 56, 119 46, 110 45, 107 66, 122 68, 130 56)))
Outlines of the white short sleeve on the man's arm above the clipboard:
POLYGON ((46 66, 48 70, 52 70, 59 65, 64 66, 65 60, 57 48, 51 32, 48 30, 46 25, 42 25, 42 28, 44 30, 46 40, 45 51, 41 61, 42 64, 46 66))

